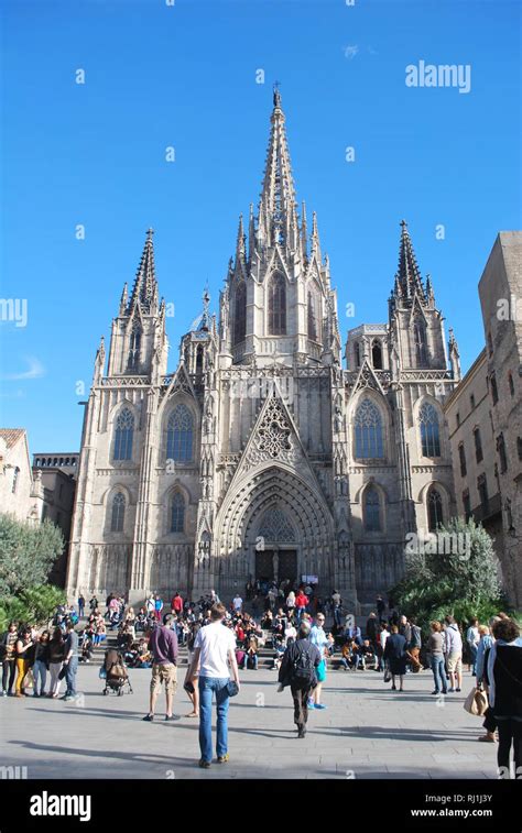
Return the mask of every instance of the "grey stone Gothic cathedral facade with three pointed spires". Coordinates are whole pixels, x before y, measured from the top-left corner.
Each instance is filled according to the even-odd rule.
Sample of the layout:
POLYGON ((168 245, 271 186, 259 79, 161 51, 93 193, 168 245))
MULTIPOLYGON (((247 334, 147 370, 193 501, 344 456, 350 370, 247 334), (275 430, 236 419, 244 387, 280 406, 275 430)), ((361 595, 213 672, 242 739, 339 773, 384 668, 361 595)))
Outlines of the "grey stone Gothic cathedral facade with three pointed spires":
POLYGON ((348 332, 316 216, 298 210, 281 96, 262 194, 219 298, 167 371, 152 231, 98 349, 86 407, 67 591, 215 588, 317 577, 354 610, 402 576, 409 533, 455 514, 443 403, 458 348, 405 222, 388 324, 348 332))

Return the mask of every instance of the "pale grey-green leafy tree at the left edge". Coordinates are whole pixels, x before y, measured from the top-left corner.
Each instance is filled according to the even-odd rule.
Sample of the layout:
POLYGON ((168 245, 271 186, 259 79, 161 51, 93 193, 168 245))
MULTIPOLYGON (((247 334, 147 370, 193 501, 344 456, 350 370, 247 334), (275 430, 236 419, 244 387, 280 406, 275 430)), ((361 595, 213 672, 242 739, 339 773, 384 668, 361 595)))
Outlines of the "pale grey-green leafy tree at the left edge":
POLYGON ((62 531, 50 520, 35 525, 0 515, 0 596, 45 583, 63 549, 62 531))

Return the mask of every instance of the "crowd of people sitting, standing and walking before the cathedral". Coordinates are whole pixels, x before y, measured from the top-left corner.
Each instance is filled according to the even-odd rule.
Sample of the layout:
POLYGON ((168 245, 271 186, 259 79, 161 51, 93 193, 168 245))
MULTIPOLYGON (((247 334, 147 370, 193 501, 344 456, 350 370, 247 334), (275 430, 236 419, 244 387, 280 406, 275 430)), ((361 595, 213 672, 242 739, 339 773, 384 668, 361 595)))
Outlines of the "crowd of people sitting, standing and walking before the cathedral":
MULTIPOLYGON (((428 634, 423 636, 420 623, 379 596, 376 612, 370 613, 361 628, 351 614, 346 614, 336 590, 328 599, 320 599, 314 591, 311 585, 294 591, 285 582, 280 587, 275 583, 261 587, 258 582, 247 585, 247 603, 236 593, 228 609, 213 590, 196 602, 176 592, 166 605, 159 594, 151 594, 138 611, 121 595, 110 593, 104 613, 96 596, 90 599, 87 611, 86 600, 80 595, 77 610, 74 605, 61 605, 48 627, 14 622, 9 625, 0 638, 2 694, 76 699, 78 662, 90 662, 95 647, 107 640, 110 631, 117 632, 119 659, 113 665, 152 669, 150 710, 144 720, 154 719, 162 684, 167 699, 166 719, 176 720, 172 704, 178 648, 186 646, 188 670, 184 690, 192 705, 186 716, 200 720, 202 760, 206 766, 213 691, 222 688, 215 680, 229 679, 229 673, 225 673, 227 667, 239 684, 237 669, 257 670, 263 648, 268 649, 262 651, 263 659, 270 656, 270 667, 279 671, 281 690, 291 688, 300 738, 306 735, 308 711, 327 708, 322 691, 330 657, 337 659, 334 665, 339 670, 372 669, 382 673, 391 690, 399 692, 404 691, 409 673, 431 669, 432 694, 441 698, 461 691, 463 661, 467 661, 475 686, 489 694, 486 733, 479 739, 496 743, 498 737, 499 768, 508 767, 509 771, 511 747, 515 766, 522 766, 522 639, 513 620, 499 613, 487 625, 472 618, 461 629, 448 614, 442 621, 431 622, 428 634), (327 617, 333 623, 330 628, 326 627, 327 617), (219 627, 211 627, 216 625, 219 627), (215 637, 209 643, 211 634, 215 637), (214 662, 216 651, 218 659, 214 662), (216 676, 216 669, 221 677, 216 676)), ((228 755, 224 741, 228 710, 225 700, 228 703, 228 695, 220 694, 218 758, 228 755)))

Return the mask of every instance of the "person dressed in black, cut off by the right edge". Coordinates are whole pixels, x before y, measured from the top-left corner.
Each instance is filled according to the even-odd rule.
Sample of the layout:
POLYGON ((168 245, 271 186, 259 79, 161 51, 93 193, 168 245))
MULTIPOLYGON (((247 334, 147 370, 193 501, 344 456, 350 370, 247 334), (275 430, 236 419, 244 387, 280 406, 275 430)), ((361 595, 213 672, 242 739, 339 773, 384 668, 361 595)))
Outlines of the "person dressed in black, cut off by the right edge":
POLYGON ((496 643, 488 658, 489 702, 497 721, 499 777, 511 778, 513 748, 514 777, 522 776, 522 639, 515 622, 505 618, 493 625, 496 643))

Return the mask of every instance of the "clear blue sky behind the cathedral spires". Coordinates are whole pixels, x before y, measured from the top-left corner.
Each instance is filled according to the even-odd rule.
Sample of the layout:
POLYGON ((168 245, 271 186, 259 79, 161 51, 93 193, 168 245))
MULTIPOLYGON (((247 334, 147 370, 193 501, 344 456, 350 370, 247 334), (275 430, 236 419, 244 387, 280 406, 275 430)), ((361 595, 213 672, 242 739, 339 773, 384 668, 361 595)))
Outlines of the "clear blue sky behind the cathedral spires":
POLYGON ((175 305, 171 370, 207 281, 217 309, 238 215, 259 197, 275 79, 342 339, 387 320, 404 217, 470 365, 483 344, 477 283, 498 231, 521 228, 518 2, 3 0, 1 10, 1 297, 26 299, 28 322, 0 324, 0 424, 25 427, 32 452, 79 447, 78 402, 150 226, 160 292, 175 305), (470 91, 407 87, 405 67, 420 61, 469 65, 470 91))

